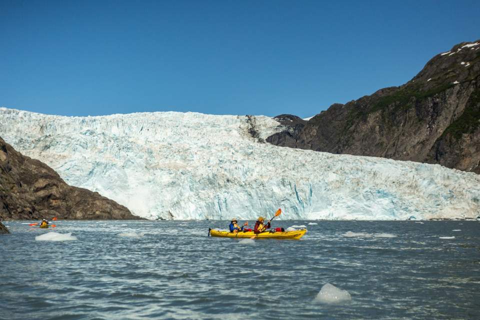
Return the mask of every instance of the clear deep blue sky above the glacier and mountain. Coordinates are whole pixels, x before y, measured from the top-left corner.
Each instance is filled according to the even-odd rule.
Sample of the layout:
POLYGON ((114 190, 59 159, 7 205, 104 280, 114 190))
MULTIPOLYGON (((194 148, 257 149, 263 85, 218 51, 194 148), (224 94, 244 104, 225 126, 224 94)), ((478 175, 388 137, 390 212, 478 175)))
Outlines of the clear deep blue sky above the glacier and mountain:
POLYGON ((318 113, 480 38, 480 1, 0 0, 0 106, 318 113))

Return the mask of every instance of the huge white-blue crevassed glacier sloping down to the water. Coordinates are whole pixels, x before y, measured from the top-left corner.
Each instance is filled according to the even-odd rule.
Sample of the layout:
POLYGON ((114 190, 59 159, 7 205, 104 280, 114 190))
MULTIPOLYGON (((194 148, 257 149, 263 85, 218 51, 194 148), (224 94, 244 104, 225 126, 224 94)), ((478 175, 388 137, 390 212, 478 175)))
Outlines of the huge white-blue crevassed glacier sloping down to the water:
POLYGON ((69 184, 148 219, 475 218, 480 176, 440 165, 279 147, 267 116, 58 116, 0 108, 0 136, 69 184))

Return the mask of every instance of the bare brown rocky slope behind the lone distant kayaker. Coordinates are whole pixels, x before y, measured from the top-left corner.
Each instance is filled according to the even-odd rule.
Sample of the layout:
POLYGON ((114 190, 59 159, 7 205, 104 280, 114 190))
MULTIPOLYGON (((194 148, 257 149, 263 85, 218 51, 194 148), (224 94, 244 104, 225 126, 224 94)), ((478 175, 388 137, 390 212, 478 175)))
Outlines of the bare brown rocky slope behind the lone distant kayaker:
POLYGON ((138 219, 98 192, 66 184, 0 137, 0 219, 138 219))

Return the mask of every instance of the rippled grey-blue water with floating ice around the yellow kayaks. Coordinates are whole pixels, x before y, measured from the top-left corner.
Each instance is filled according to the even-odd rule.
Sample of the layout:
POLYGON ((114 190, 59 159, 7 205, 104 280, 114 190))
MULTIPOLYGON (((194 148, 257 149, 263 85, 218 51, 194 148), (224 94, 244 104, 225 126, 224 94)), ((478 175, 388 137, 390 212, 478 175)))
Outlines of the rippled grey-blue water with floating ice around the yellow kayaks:
POLYGON ((219 221, 58 221, 58 242, 8 222, 0 318, 480 318, 479 222, 308 222, 253 244, 207 237, 219 221), (351 301, 314 301, 326 283, 351 301))

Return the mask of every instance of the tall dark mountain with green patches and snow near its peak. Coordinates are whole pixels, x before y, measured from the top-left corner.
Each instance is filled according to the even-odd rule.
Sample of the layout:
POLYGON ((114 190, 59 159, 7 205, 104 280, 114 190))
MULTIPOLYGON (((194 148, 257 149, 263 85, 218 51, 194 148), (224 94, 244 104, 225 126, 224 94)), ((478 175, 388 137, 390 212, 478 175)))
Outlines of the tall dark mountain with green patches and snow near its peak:
POLYGON ((266 139, 275 145, 480 173, 480 40, 437 54, 398 87, 332 104, 309 121, 275 119, 285 128, 266 139))

